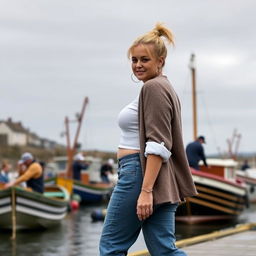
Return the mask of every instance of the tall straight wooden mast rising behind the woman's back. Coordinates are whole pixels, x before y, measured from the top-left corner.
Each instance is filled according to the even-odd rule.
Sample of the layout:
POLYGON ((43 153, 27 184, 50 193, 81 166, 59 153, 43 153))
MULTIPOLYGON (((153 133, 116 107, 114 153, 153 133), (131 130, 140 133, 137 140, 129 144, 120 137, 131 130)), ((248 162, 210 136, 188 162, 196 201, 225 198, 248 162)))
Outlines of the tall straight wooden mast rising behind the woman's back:
POLYGON ((196 67, 195 54, 191 54, 189 68, 192 75, 192 111, 193 111, 193 138, 197 139, 197 99, 196 99, 196 67))

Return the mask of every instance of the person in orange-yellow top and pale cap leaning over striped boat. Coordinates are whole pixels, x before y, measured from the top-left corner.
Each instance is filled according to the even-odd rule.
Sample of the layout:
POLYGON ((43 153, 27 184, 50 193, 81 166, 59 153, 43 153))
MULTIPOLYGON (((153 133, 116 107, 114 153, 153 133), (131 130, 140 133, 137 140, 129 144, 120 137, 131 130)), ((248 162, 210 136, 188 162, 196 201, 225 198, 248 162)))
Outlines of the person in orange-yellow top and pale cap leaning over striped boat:
POLYGON ((26 167, 24 173, 14 181, 11 181, 5 185, 5 188, 20 185, 26 182, 26 186, 33 191, 43 193, 44 192, 44 179, 42 166, 35 161, 33 155, 29 152, 24 153, 21 156, 20 164, 26 167))

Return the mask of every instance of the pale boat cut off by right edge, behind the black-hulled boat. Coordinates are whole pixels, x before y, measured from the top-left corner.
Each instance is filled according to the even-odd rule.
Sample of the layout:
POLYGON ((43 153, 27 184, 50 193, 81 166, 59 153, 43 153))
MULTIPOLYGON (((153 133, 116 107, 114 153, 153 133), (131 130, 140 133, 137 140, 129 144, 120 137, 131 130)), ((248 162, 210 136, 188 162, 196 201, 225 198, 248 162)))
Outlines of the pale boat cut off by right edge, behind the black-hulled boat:
POLYGON ((250 203, 256 203, 256 169, 236 170, 236 176, 246 184, 250 203))

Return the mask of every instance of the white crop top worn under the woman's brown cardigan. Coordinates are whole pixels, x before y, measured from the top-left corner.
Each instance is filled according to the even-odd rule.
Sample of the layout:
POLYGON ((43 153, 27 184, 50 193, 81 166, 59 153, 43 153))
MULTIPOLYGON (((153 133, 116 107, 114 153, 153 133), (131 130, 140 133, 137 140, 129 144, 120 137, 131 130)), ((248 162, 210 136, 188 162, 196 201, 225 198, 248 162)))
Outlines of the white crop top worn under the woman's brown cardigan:
POLYGON ((139 96, 125 106, 118 115, 118 125, 121 128, 119 148, 140 149, 138 105, 139 96))

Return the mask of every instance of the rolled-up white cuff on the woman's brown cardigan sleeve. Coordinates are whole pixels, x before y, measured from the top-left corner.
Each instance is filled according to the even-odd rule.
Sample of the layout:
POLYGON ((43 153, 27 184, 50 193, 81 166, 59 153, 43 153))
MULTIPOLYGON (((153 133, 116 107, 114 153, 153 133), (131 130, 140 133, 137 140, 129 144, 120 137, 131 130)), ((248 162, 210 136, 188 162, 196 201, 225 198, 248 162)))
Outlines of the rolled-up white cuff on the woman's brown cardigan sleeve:
POLYGON ((146 142, 146 149, 145 149, 145 157, 148 155, 158 155, 163 158, 163 162, 167 162, 171 156, 171 151, 169 151, 165 146, 164 143, 157 143, 154 141, 146 142))

